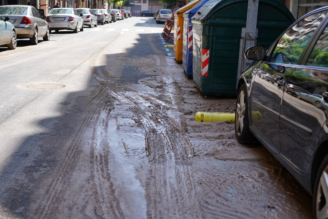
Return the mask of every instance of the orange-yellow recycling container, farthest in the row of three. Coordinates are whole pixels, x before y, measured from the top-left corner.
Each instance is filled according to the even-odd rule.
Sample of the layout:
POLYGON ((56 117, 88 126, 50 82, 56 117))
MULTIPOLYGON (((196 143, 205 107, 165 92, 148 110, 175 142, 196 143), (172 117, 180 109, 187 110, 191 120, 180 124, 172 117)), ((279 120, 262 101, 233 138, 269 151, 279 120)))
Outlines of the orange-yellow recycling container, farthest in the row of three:
POLYGON ((183 13, 191 9, 201 0, 191 1, 189 4, 179 8, 174 12, 174 37, 173 37, 173 53, 178 63, 182 63, 182 34, 183 34, 183 13))

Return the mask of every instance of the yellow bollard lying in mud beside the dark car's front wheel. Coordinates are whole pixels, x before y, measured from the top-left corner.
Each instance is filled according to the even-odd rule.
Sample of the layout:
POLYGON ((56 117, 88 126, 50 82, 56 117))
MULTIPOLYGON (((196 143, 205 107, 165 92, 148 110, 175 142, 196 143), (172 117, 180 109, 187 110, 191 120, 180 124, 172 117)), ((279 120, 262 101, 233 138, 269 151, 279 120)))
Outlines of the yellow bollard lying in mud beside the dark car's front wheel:
POLYGON ((235 121, 235 113, 230 112, 196 112, 195 122, 235 121))

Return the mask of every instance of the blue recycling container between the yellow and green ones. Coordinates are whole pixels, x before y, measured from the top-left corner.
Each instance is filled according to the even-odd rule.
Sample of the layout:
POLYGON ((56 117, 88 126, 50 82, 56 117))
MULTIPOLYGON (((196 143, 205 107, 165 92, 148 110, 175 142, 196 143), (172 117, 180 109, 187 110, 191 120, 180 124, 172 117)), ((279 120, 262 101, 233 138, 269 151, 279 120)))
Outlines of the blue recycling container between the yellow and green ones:
POLYGON ((188 78, 193 78, 193 24, 191 18, 209 0, 202 0, 183 13, 182 67, 188 78))

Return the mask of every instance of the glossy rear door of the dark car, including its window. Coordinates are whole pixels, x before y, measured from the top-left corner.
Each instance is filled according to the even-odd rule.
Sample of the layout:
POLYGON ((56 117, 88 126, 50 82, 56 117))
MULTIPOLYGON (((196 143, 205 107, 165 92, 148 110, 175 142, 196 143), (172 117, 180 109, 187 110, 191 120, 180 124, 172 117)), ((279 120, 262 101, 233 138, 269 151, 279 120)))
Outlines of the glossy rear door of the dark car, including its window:
MULTIPOLYGON (((326 14, 324 11, 316 16, 322 20, 326 14)), ((315 22, 318 20, 313 19, 315 22)), ((309 166, 312 146, 328 116, 328 61, 323 58, 328 55, 326 24, 323 28, 317 34, 319 38, 313 50, 303 59, 303 66, 286 78, 289 84, 300 89, 294 95, 285 93, 281 105, 280 154, 300 172, 309 166)), ((300 33, 303 34, 302 30, 300 33)))

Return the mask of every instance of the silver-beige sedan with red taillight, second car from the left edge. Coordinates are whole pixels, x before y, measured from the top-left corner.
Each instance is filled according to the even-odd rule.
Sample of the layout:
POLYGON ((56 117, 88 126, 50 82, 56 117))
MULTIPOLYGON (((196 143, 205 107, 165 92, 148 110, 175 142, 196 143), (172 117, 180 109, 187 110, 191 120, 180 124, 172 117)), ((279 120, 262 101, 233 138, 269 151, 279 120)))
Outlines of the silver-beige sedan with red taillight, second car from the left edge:
POLYGON ((32 45, 38 43, 38 38, 47 41, 50 38, 49 25, 46 17, 42 16, 36 8, 29 5, 0 6, 0 14, 10 17, 8 20, 15 27, 18 39, 29 38, 32 45))

